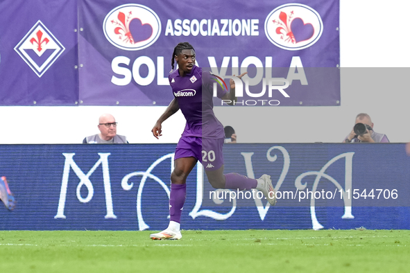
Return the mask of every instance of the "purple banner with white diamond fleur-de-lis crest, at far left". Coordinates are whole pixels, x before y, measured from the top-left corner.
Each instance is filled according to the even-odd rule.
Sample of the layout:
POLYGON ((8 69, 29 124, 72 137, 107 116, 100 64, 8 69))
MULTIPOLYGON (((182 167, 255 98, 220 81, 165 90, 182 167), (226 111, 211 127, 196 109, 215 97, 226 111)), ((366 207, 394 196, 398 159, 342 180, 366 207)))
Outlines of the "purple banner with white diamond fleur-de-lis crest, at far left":
POLYGON ((0 105, 76 105, 77 1, 0 1, 0 105))

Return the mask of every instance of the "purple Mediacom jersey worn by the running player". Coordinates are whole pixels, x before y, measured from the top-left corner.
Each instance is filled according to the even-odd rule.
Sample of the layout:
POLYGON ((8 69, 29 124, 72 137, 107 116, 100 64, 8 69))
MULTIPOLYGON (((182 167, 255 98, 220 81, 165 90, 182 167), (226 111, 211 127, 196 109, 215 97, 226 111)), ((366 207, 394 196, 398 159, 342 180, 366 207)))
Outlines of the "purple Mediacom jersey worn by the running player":
MULTIPOLYGON (((223 125, 214 115, 213 83, 214 76, 202 68, 194 66, 190 73, 181 77, 178 69, 169 74, 169 83, 187 120, 182 136, 197 136, 209 139, 219 139, 225 136, 223 125)), ((217 85, 217 96, 222 98, 228 90, 217 85)))

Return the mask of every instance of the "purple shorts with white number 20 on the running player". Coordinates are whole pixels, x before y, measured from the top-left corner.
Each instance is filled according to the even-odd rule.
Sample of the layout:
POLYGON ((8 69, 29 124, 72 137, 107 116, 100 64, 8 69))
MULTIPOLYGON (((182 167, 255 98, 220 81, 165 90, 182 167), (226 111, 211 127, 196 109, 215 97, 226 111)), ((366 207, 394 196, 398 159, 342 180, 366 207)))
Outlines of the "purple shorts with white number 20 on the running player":
POLYGON ((175 159, 195 157, 205 170, 218 170, 223 165, 223 139, 182 136, 175 149, 175 159))

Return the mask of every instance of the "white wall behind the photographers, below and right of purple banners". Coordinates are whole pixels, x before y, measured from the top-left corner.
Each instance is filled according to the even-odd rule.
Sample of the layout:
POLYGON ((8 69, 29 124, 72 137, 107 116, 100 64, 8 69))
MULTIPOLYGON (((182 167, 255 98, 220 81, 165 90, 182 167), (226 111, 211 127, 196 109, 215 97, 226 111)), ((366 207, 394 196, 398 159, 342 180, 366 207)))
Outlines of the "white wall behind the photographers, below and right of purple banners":
MULTIPOLYGON (((340 142, 359 112, 391 142, 410 141, 409 10, 405 0, 341 0, 341 106, 216 107, 216 115, 241 143, 340 142)), ((180 112, 163 123, 160 141, 151 134, 165 108, 0 107, 0 143, 81 143, 99 132, 103 113, 115 116, 130 143, 176 143, 185 126, 180 112)))

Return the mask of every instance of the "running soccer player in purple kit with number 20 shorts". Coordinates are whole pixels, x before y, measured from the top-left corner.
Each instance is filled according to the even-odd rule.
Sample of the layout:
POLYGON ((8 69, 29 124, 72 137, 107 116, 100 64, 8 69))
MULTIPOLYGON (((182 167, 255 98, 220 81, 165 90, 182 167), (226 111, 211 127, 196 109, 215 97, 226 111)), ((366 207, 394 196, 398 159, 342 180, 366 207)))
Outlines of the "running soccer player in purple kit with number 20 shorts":
MULTIPOLYGON (((195 50, 188 42, 178 44, 173 50, 171 67, 174 61, 178 69, 169 74, 169 83, 173 91, 173 100, 169 103, 164 114, 158 118, 151 132, 158 139, 162 136, 162 123, 181 109, 187 120, 185 130, 176 146, 174 165, 171 173, 171 193, 169 197, 169 226, 164 231, 151 234, 153 240, 179 240, 180 219, 182 207, 185 203, 187 186, 185 184, 191 170, 199 160, 205 168, 205 173, 214 188, 229 188, 244 190, 256 188, 264 193, 271 205, 276 203, 275 189, 271 176, 262 175, 259 179, 252 179, 237 173, 223 174, 222 146, 224 140, 223 125, 216 119, 213 111, 213 83, 214 76, 210 72, 202 71, 195 65, 195 50)), ((242 73, 241 78, 246 73, 242 73)), ((223 100, 234 101, 234 81, 230 80, 230 91, 218 88, 217 96, 223 100)))

